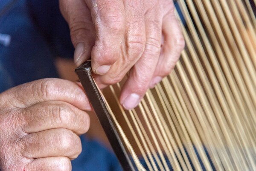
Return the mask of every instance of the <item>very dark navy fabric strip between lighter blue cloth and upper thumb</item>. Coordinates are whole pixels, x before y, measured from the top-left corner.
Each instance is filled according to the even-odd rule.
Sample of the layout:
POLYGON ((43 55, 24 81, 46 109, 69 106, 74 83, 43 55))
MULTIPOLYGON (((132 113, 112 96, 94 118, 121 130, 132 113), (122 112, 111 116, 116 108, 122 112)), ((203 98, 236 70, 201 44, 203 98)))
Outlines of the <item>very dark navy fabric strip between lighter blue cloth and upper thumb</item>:
POLYGON ((73 58, 70 30, 59 11, 58 0, 27 0, 30 16, 55 56, 73 58))

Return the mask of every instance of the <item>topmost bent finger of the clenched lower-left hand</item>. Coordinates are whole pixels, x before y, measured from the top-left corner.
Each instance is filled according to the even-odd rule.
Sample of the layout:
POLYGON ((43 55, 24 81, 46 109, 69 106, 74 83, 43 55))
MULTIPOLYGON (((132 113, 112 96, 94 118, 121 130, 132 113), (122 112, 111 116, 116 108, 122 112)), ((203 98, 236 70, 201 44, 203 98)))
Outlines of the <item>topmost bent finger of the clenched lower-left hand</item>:
POLYGON ((3 105, 26 108, 44 101, 65 101, 82 110, 92 110, 80 83, 46 78, 13 87, 0 96, 3 105))

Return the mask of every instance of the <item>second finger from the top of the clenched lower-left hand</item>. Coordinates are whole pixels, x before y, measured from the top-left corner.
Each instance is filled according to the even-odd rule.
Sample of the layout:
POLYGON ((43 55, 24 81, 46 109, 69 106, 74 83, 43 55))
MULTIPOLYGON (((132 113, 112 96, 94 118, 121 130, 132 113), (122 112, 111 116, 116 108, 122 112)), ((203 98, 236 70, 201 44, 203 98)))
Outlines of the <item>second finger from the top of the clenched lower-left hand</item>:
POLYGON ((21 118, 25 121, 23 131, 26 133, 67 128, 81 135, 90 126, 90 117, 86 112, 62 101, 46 101, 25 108, 21 118))

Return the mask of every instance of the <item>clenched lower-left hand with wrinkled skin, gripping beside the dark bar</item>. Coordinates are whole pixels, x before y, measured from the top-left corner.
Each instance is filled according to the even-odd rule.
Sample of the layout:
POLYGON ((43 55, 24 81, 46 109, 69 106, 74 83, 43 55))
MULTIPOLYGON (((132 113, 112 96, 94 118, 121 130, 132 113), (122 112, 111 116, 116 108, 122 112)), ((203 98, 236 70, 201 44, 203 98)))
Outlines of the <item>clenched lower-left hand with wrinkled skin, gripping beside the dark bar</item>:
POLYGON ((71 171, 91 110, 79 83, 42 79, 0 94, 0 170, 71 171))

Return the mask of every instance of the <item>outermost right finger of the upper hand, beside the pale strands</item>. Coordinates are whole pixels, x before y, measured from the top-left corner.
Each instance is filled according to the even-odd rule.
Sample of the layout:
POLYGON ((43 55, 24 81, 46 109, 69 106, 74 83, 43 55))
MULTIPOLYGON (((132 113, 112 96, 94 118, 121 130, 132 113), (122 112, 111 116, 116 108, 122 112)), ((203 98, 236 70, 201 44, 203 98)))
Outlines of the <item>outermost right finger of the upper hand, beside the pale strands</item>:
MULTIPOLYGON (((168 6, 167 6, 168 7, 168 6)), ((163 47, 150 87, 172 71, 184 49, 185 41, 174 14, 174 4, 169 3, 168 13, 163 17, 163 47)))

